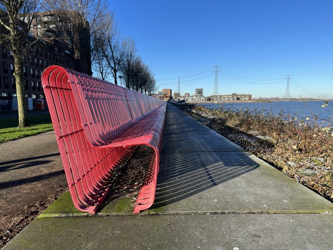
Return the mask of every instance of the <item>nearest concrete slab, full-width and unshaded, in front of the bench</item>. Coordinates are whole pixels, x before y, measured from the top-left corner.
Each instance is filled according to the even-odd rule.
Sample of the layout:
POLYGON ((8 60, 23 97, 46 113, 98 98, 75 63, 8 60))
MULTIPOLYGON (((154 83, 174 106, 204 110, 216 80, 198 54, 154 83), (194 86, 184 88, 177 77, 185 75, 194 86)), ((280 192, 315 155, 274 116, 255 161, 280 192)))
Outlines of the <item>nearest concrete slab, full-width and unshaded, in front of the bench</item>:
POLYGON ((330 249, 333 214, 38 218, 3 249, 330 249))

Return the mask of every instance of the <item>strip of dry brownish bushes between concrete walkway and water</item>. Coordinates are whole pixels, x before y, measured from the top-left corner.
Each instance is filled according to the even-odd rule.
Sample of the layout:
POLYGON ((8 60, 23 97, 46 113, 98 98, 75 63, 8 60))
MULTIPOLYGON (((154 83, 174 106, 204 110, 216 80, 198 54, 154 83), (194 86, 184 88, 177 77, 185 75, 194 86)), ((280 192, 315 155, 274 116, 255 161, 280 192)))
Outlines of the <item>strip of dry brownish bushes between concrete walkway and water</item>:
POLYGON ((332 119, 322 121, 316 115, 299 119, 267 110, 224 109, 223 106, 213 110, 187 103, 177 106, 333 201, 332 119))

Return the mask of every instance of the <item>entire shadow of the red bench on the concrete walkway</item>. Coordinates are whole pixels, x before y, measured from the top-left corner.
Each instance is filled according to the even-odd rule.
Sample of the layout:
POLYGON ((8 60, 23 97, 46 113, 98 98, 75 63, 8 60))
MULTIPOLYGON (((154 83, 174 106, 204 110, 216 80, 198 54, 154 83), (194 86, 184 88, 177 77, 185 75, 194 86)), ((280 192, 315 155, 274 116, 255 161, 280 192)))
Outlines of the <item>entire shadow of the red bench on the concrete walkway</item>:
POLYGON ((181 110, 169 108, 152 209, 212 189, 259 167, 249 157, 252 154, 181 110))

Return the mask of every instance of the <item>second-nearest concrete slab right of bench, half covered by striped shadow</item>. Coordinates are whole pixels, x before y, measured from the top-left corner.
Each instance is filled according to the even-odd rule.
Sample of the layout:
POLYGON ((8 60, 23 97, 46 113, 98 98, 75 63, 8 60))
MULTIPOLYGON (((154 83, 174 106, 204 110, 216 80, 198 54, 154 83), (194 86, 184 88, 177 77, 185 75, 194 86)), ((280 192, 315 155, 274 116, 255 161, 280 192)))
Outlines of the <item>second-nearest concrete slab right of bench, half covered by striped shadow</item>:
POLYGON ((246 152, 161 154, 159 214, 333 212, 333 203, 246 152))

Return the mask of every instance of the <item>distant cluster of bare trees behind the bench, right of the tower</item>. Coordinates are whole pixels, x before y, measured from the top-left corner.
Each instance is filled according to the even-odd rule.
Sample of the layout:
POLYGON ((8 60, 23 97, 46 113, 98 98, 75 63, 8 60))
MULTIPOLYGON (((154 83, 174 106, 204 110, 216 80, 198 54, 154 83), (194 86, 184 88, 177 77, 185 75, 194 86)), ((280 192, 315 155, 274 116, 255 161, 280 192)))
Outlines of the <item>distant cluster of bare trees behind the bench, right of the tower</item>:
POLYGON ((114 13, 109 12, 99 26, 92 48, 93 69, 97 76, 119 84, 121 75, 128 89, 149 95, 156 92, 154 74, 137 54, 134 39, 121 34, 114 13))

